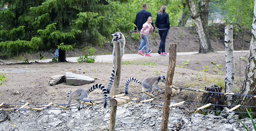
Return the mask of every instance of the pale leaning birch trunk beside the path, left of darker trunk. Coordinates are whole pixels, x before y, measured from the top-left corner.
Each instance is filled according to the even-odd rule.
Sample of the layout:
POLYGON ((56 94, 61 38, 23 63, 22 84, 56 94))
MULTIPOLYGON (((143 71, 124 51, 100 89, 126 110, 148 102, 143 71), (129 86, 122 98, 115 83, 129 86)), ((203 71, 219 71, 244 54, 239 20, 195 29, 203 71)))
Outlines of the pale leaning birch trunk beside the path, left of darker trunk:
POLYGON ((186 2, 188 4, 188 8, 191 13, 190 16, 194 20, 196 32, 199 37, 199 53, 208 53, 208 52, 214 51, 211 47, 211 44, 207 43, 206 35, 204 33, 204 29, 202 25, 202 20, 196 11, 196 6, 193 0, 186 0, 186 2))

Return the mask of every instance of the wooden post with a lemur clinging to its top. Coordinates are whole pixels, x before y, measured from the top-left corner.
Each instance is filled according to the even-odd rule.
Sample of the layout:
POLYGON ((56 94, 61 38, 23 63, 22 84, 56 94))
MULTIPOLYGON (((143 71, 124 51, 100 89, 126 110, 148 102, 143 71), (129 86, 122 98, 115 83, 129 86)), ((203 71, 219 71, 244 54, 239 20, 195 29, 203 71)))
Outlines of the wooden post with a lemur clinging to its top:
MULTIPOLYGON (((115 59, 115 77, 114 77, 114 83, 113 83, 113 93, 112 96, 117 95, 118 87, 120 83, 120 77, 121 77, 121 65, 122 65, 122 58, 121 58, 121 44, 117 44, 117 41, 114 41, 115 44, 115 53, 116 53, 116 59, 115 59)), ((116 109, 117 106, 111 106, 111 113, 110 113, 110 126, 109 131, 114 131, 116 127, 116 109)))

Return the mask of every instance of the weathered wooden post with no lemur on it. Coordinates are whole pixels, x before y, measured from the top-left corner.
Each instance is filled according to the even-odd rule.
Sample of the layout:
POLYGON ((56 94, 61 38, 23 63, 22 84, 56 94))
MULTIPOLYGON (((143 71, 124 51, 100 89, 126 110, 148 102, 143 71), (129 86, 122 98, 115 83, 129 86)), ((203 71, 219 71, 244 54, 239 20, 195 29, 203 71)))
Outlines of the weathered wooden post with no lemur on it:
MULTIPOLYGON (((174 69, 175 69, 175 64, 176 64, 176 49, 177 49, 177 44, 176 43, 169 43, 169 67, 167 71, 167 76, 166 76, 166 86, 172 85, 173 82, 173 75, 174 75, 174 69)), ((165 90, 165 101, 164 105, 170 105, 170 100, 171 94, 167 93, 165 90)), ((168 131, 168 120, 169 120, 169 114, 170 114, 170 108, 164 106, 163 107, 163 120, 162 120, 162 128, 161 131, 168 131)))

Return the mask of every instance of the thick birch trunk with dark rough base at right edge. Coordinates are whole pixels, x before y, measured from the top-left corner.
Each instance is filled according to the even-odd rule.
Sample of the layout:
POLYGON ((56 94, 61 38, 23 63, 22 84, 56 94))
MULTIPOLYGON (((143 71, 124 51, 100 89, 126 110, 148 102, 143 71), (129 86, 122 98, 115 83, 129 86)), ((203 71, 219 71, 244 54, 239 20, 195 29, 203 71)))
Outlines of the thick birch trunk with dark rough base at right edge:
MULTIPOLYGON (((250 43, 250 53, 248 58, 248 63, 245 69, 245 78, 243 85, 240 89, 241 94, 256 95, 256 0, 253 10, 253 22, 252 22, 252 39, 250 43)), ((234 103, 239 103, 241 105, 253 105, 255 106, 256 99, 253 97, 236 97, 234 103)), ((252 108, 252 111, 255 111, 252 108)))

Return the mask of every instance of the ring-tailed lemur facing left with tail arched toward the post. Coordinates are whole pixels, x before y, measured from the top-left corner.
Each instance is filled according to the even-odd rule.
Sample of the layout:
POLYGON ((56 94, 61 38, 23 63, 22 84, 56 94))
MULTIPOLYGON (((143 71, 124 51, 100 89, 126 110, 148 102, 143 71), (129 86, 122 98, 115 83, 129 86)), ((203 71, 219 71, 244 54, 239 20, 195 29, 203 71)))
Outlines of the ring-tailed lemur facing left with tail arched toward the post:
POLYGON ((90 93, 96 89, 96 88, 99 88, 102 90, 102 93, 103 93, 103 98, 104 98, 104 101, 103 101, 103 104, 104 104, 104 108, 106 108, 107 104, 108 104, 108 90, 105 88, 105 86, 103 86, 102 84, 95 84, 93 86, 91 86, 90 89, 83 89, 83 88, 80 88, 80 89, 77 89, 75 90, 74 92, 73 91, 70 91, 70 92, 67 92, 68 93, 68 105, 67 107, 69 107, 69 104, 71 102, 71 100, 76 100, 78 102, 78 110, 80 110, 80 108, 83 108, 84 107, 84 104, 82 104, 82 106, 80 106, 80 101, 91 101, 91 99, 89 99, 90 97, 90 93))

